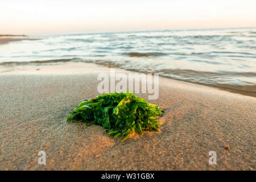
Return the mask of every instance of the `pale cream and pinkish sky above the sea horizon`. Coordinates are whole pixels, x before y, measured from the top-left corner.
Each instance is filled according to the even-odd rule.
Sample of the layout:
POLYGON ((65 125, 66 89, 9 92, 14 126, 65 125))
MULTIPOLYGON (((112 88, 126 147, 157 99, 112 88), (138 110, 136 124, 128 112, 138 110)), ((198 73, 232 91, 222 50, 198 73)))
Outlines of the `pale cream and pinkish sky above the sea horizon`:
POLYGON ((256 0, 7 0, 0 34, 256 27, 256 0))

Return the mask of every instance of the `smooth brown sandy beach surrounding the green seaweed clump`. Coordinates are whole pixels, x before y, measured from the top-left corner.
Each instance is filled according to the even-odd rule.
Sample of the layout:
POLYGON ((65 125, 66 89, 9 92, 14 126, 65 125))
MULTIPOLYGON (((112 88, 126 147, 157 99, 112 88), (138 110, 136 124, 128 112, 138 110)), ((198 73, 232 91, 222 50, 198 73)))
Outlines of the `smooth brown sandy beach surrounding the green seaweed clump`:
POLYGON ((98 95, 102 72, 109 68, 66 63, 1 73, 0 169, 255 170, 255 97, 160 77, 159 98, 150 101, 165 110, 160 132, 121 142, 101 126, 66 122, 81 100, 98 95))

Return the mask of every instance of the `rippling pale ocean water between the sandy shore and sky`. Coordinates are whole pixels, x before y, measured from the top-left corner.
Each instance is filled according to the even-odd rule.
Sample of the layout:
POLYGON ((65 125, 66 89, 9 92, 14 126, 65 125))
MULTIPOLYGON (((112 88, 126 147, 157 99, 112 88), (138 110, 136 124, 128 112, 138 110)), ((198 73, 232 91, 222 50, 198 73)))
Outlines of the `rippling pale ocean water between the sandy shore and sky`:
MULTIPOLYGON (((256 93, 256 28, 30 36, 0 45, 0 65, 84 61, 256 93)), ((1 70, 0 70, 1 71, 1 70)))

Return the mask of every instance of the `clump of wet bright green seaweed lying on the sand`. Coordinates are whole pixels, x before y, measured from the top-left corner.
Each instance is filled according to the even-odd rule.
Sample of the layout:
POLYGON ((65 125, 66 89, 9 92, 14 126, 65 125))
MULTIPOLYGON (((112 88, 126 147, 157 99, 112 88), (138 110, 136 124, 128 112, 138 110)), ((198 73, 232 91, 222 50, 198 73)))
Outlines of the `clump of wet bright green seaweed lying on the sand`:
POLYGON ((158 131, 161 123, 157 117, 162 112, 158 105, 150 104, 132 92, 114 92, 82 101, 68 115, 67 121, 101 125, 108 135, 122 137, 123 141, 134 132, 158 131))

